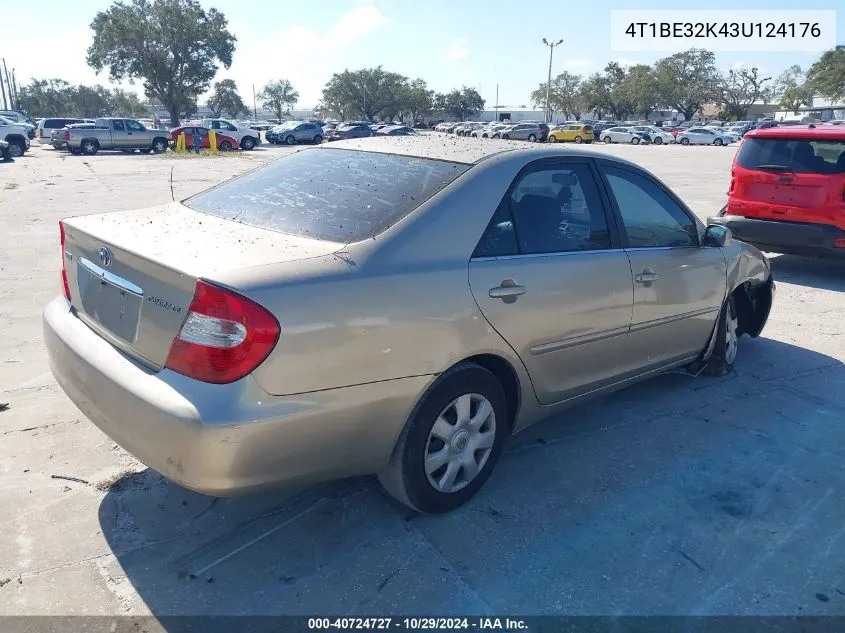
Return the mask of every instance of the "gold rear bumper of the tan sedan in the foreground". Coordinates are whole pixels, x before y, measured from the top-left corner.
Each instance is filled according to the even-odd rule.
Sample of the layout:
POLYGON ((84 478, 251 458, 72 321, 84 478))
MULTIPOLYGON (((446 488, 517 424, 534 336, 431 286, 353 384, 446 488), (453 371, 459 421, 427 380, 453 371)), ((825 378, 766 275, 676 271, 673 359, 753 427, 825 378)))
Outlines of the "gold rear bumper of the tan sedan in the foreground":
POLYGON ((251 376, 210 385, 142 367, 64 297, 45 309, 43 329, 53 375, 94 424, 168 479, 217 496, 378 472, 430 382, 277 397, 251 376))

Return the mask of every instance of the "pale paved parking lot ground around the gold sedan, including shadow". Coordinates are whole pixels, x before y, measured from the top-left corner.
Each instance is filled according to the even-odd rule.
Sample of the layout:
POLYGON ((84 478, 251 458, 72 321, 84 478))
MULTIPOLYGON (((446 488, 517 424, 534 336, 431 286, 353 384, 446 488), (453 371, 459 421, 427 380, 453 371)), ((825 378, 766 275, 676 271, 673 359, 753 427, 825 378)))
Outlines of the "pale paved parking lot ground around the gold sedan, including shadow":
MULTIPOLYGON (((724 203, 734 148, 593 147, 702 217, 724 203)), ((775 258, 769 324, 734 374, 666 375, 535 425, 450 515, 411 515, 374 478, 211 499, 119 449, 42 348, 58 220, 179 199, 287 151, 36 144, 0 164, 0 615, 845 615, 841 264, 775 258)))

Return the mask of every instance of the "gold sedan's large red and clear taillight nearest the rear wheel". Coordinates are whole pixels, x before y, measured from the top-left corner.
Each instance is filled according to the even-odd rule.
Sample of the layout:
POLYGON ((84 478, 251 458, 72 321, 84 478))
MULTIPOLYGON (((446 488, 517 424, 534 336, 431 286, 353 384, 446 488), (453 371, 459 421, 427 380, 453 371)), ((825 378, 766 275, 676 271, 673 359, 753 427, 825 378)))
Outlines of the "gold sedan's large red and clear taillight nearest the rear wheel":
POLYGON ((254 301, 200 280, 165 365, 203 382, 234 382, 264 362, 280 332, 254 301))

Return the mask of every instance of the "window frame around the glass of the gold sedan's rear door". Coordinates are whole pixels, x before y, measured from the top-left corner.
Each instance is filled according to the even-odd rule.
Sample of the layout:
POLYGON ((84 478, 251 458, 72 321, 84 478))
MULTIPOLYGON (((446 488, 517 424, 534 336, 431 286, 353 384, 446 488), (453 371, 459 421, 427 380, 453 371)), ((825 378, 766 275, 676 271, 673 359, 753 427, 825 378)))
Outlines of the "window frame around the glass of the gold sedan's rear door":
MULTIPOLYGON (((484 232, 478 238, 478 242, 473 248, 472 255, 470 255, 470 259, 501 259, 501 258, 516 258, 516 257, 556 257, 562 255, 576 255, 576 254, 584 254, 584 253, 597 253, 597 252, 607 252, 607 251, 618 251, 620 249, 625 248, 625 243, 623 242, 623 236, 625 235, 624 229, 620 230, 620 226, 617 222, 621 221, 618 215, 618 211, 615 210, 613 207, 613 198, 609 195, 608 190, 606 190, 606 183, 604 181, 604 176, 600 172, 598 165, 596 164, 596 159, 590 157, 581 157, 581 156, 573 156, 573 157, 565 157, 565 156, 553 156, 550 158, 540 158, 535 161, 532 161, 525 165, 522 169, 520 169, 516 176, 514 176, 513 180, 511 181, 510 185, 508 185, 507 190, 505 191, 504 196, 499 201, 499 204, 496 205, 496 208, 493 210, 493 213, 490 215, 490 222, 492 222, 493 217, 495 216, 496 212, 499 210, 499 207, 504 204, 508 211, 508 217, 514 227, 514 235, 516 237, 517 249, 518 252, 512 255, 475 255, 475 252, 478 250, 479 245, 481 244, 481 240, 484 239, 484 236, 487 234, 487 230, 490 227, 490 222, 488 222, 487 226, 484 228, 484 232), (587 168, 590 170, 590 173, 593 176, 593 180, 596 184, 596 190, 599 194, 599 199, 602 205, 602 211, 604 212, 605 222, 607 223, 607 231, 610 237, 610 248, 609 249, 596 249, 596 250, 585 250, 585 251, 564 251, 560 253, 523 253, 521 250, 521 242, 519 240, 519 228, 516 225, 516 219, 514 218, 513 208, 511 207, 511 201, 513 200, 513 192, 516 189, 517 185, 522 181, 525 176, 530 173, 541 171, 547 167, 554 167, 555 165, 571 165, 571 164, 578 164, 578 165, 586 165, 587 168)), ((674 199, 674 198, 673 198, 674 199)))

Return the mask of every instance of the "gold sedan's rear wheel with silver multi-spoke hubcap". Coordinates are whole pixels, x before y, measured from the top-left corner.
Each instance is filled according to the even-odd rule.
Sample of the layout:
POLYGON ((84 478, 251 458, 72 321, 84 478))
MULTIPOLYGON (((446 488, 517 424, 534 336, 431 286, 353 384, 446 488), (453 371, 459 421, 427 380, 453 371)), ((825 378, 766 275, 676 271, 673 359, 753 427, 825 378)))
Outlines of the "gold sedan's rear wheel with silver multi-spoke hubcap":
POLYGON ((507 432, 501 383, 483 367, 461 363, 417 404, 379 480, 418 512, 454 510, 490 477, 507 432))

